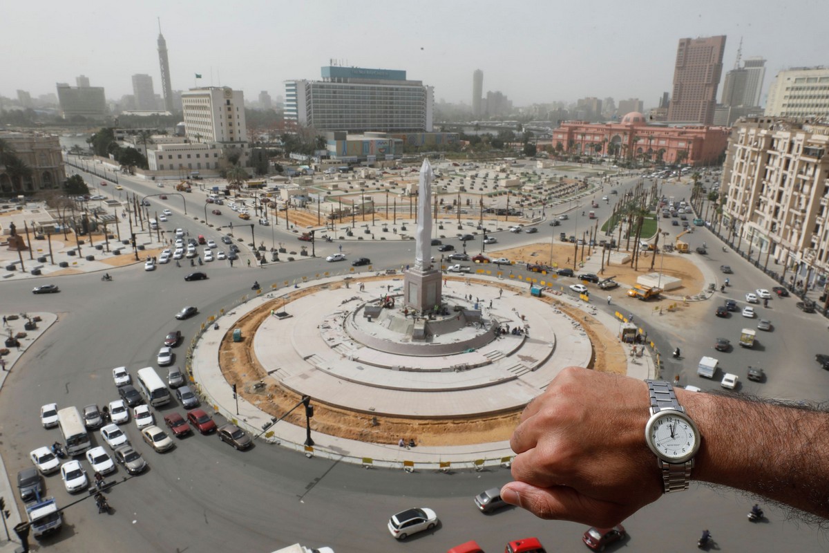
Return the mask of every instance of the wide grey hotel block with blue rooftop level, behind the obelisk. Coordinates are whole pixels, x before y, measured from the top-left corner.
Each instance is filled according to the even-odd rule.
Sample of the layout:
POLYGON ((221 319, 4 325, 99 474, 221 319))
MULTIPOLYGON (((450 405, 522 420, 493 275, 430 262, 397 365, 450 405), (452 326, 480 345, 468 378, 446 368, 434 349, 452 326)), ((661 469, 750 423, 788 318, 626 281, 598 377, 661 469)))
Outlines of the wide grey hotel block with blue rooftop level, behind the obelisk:
POLYGON ((318 130, 432 132, 434 90, 402 70, 322 67, 322 80, 285 81, 284 119, 318 130))

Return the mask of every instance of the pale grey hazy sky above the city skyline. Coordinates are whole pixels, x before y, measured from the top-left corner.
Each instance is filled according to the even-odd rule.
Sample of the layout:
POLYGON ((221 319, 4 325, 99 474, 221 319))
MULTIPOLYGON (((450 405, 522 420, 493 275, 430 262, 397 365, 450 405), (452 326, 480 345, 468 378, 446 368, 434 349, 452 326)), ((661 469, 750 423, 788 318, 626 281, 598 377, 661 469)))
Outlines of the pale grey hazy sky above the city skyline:
MULTIPOLYGON (((256 99, 284 94, 284 80, 320 77, 343 65, 406 70, 435 99, 471 103, 473 71, 483 90, 516 106, 584 96, 638 97, 657 104, 671 90, 681 37, 726 35, 723 75, 743 56, 778 70, 829 65, 827 0, 5 0, 0 3, 0 95, 32 96, 86 75, 107 98, 132 94, 131 76, 152 75, 161 94, 158 24, 167 39, 172 87, 228 85, 256 99), (212 75, 212 76, 211 76, 212 75)), ((721 92, 718 92, 718 98, 721 92)))

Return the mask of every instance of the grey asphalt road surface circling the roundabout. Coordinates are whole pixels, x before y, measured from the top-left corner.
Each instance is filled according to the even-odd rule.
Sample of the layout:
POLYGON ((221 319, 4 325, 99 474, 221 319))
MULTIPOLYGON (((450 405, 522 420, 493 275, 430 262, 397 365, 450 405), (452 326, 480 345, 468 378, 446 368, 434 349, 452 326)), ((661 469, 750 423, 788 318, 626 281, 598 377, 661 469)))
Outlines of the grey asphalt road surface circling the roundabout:
MULTIPOLYGON (((168 228, 175 226, 188 226, 191 235, 196 229, 194 221, 180 215, 172 216, 168 223, 168 228)), ((542 233, 561 231, 561 227, 541 228, 542 233)), ((206 230, 205 234, 218 235, 214 230, 206 230)), ((501 245, 512 245, 534 242, 538 236, 499 233, 498 239, 501 245)), ((715 240, 708 242, 711 245, 715 240)), ((400 244, 349 242, 345 247, 350 256, 371 257, 376 265, 410 262, 410 252, 401 249, 400 244)), ((712 255, 706 262, 719 266, 721 260, 715 258, 712 255)), ((771 287, 748 264, 731 264, 735 274, 730 295, 771 287)), ((57 401, 60 405, 82 406, 113 400, 116 393, 109 376, 113 366, 126 365, 133 371, 153 366, 164 333, 180 328, 191 336, 199 321, 176 321, 172 316, 178 308, 193 304, 210 313, 248 293, 253 279, 262 284, 293 281, 334 265, 317 259, 270 264, 266 269, 246 269, 237 264, 231 269, 226 262, 213 262, 202 268, 211 278, 194 283, 182 279, 188 267, 179 269, 167 264, 147 273, 142 265, 135 265, 114 271, 112 283, 102 283, 96 275, 61 277, 63 292, 48 296, 29 293, 31 282, 0 283, 4 310, 53 311, 60 315, 59 322, 26 353, 2 389, 4 439, 0 449, 9 473, 13 476, 27 466, 28 451, 56 439, 56 430, 47 431, 37 424, 40 405, 57 401)), ((768 383, 758 386, 764 395, 820 396, 826 390, 827 375, 813 362, 813 352, 802 344, 811 342, 807 337, 822 340, 827 332, 822 324, 808 324, 821 319, 797 312, 793 302, 785 299, 773 300, 773 313, 778 329, 761 336, 764 351, 758 348, 720 354, 722 361, 725 364, 727 358, 733 366, 762 361, 771 373, 768 383), (791 339, 793 329, 797 329, 795 340, 791 339), (784 335, 790 337, 788 347, 784 335)), ((726 330, 739 332, 743 322, 738 318, 720 320, 711 314, 710 324, 678 330, 654 327, 653 332, 657 340, 666 343, 665 347, 681 343, 686 358, 696 360, 710 352, 709 344, 716 335, 726 330)), ((177 354, 183 355, 182 347, 177 354)), ((711 383, 708 387, 717 386, 711 383)), ((746 389, 753 390, 749 386, 746 389)), ((157 416, 172 410, 181 411, 177 405, 170 405, 159 410, 157 416)), ((149 472, 110 492, 115 509, 112 516, 99 516, 90 502, 71 507, 66 512, 64 531, 43 542, 51 551, 273 551, 302 541, 309 546, 331 545, 338 553, 434 553, 473 538, 487 551, 501 551, 505 541, 525 536, 539 536, 548 551, 584 551, 579 541, 584 526, 541 521, 518 509, 490 517, 476 512, 473 495, 506 482, 510 477, 504 469, 451 474, 365 470, 264 445, 240 453, 216 437, 200 435, 182 440, 168 454, 155 454, 140 443, 132 423, 128 434, 148 459, 149 472), (421 505, 434 507, 442 525, 405 544, 396 544, 385 530, 390 513, 421 505)), ((122 475, 119 471, 118 478, 122 475)), ((46 486, 61 504, 70 501, 59 477, 47 478, 46 486)), ((636 551, 662 552, 666 547, 670 551, 695 551, 696 536, 708 527, 724 550, 826 548, 816 531, 783 522, 783 515, 770 508, 766 509, 769 523, 750 525, 744 519, 749 505, 748 499, 730 492, 695 487, 647 507, 626 521, 631 534, 628 545, 636 551), (671 528, 667 536, 666 527, 671 528), (665 537, 655 540, 652 536, 665 537)))

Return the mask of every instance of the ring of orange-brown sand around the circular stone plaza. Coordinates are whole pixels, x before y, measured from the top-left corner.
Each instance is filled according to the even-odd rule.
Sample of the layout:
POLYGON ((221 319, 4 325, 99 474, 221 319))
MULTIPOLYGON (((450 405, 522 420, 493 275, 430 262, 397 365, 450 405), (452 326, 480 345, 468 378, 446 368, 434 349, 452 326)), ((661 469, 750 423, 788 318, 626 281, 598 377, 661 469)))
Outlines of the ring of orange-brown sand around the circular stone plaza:
MULTIPOLYGON (((355 285, 361 281, 388 279, 388 276, 361 277, 360 279, 343 280, 325 284, 321 287, 300 289, 288 296, 288 302, 303 297, 309 293, 318 292, 322 287, 338 289, 355 285)), ((450 280, 463 280, 463 277, 448 277, 450 280)), ((488 285, 493 285, 487 282, 488 285)), ((507 284, 494 284, 507 287, 507 284)), ((609 371, 624 374, 627 371, 627 359, 623 347, 613 332, 599 324, 589 315, 585 315, 578 308, 566 305, 559 300, 546 296, 542 298, 546 303, 555 305, 570 317, 579 320, 593 344, 593 358, 591 368, 597 371, 609 371)), ((242 336, 253 337, 259 325, 268 318, 271 309, 279 311, 282 308, 282 299, 274 299, 264 303, 259 308, 247 313, 233 328, 241 328, 242 336)), ((221 339, 219 350, 219 366, 225 380, 236 384, 240 394, 252 405, 271 416, 279 417, 297 405, 302 398, 281 386, 279 382, 267 375, 266 369, 259 363, 248 342, 233 342, 232 333, 225 333, 221 339), (264 382, 264 390, 255 390, 254 385, 264 382)), ((521 409, 498 415, 478 417, 456 417, 445 419, 417 419, 388 417, 381 415, 366 415, 350 410, 343 410, 333 405, 314 400, 314 429, 323 434, 331 434, 346 439, 356 439, 376 444, 396 444, 401 437, 414 438, 418 444, 443 446, 463 444, 487 444, 503 441, 510 438, 521 417, 521 409)), ((288 415, 286 420, 291 424, 303 425, 304 414, 296 410, 288 415)))

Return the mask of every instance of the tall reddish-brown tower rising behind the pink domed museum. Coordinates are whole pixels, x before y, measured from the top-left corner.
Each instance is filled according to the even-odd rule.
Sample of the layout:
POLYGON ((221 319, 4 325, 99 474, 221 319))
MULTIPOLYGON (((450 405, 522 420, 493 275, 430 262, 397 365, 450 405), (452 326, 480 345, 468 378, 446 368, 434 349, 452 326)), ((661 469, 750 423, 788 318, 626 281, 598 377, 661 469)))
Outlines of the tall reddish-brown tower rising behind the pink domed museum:
POLYGON ((669 121, 712 123, 724 52, 724 35, 680 39, 668 107, 669 121))

